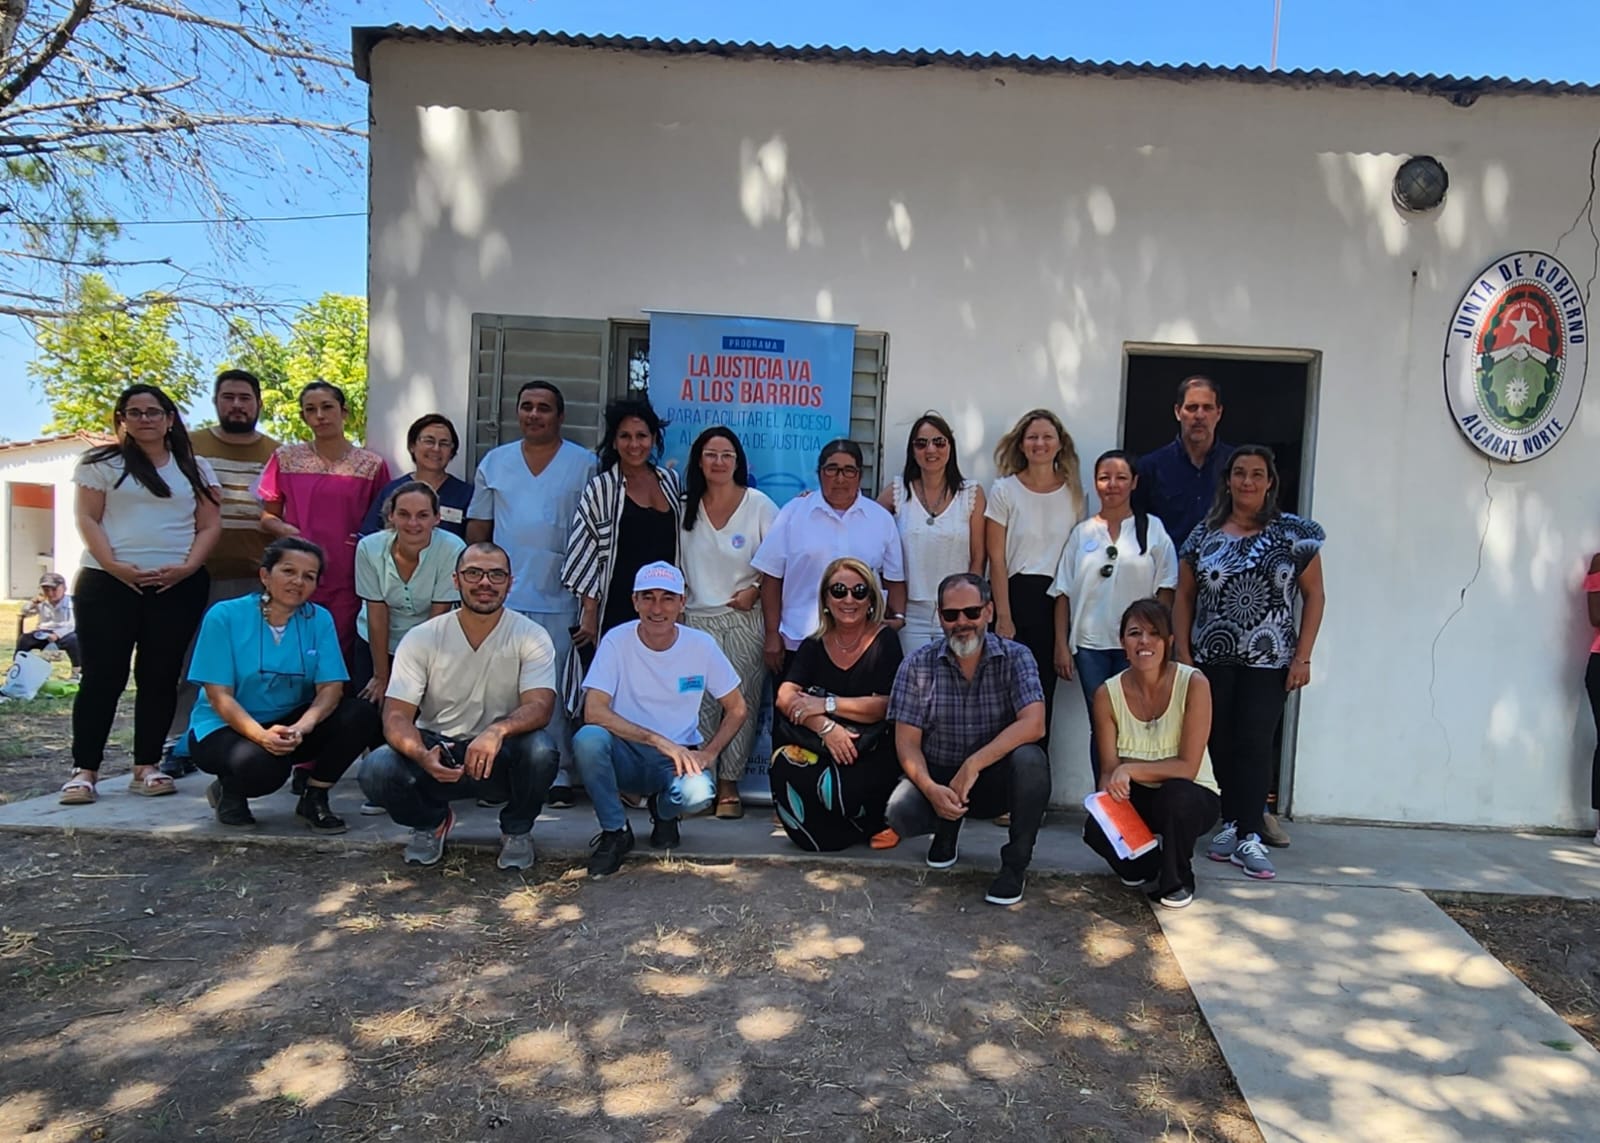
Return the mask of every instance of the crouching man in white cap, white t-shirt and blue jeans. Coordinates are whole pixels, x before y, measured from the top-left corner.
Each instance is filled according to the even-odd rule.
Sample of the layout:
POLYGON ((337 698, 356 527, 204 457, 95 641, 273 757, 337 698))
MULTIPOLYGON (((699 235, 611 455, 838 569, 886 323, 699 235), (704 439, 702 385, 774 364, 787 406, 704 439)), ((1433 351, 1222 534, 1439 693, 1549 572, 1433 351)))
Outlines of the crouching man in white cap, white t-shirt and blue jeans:
POLYGON ((622 868, 634 831, 619 791, 650 799, 650 844, 678 844, 678 818, 699 813, 717 796, 712 775, 722 748, 744 722, 739 676, 717 642, 680 628, 683 573, 670 563, 646 563, 634 576, 638 620, 606 632, 584 676, 584 722, 573 754, 595 804, 600 836, 589 855, 589 876, 622 868), (701 698, 722 703, 722 725, 701 741, 701 698))

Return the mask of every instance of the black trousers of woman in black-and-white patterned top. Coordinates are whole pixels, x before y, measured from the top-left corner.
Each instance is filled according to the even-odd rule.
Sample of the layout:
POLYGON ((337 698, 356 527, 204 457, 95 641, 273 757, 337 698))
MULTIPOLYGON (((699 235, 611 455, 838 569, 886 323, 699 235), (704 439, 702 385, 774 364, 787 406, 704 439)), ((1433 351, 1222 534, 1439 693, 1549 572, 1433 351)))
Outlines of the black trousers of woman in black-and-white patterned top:
POLYGON ((1274 752, 1288 668, 1202 664, 1211 684, 1211 770, 1222 789, 1222 821, 1238 836, 1261 832, 1261 812, 1278 768, 1274 752))

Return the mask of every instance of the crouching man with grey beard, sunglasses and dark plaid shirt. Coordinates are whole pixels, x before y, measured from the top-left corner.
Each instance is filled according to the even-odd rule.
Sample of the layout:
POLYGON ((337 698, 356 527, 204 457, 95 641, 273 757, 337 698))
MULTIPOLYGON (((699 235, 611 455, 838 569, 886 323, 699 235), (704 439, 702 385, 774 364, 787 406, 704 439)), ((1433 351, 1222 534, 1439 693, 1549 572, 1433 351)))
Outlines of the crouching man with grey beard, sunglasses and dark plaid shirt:
POLYGON ((890 692, 894 749, 906 776, 890 796, 888 821, 901 837, 933 834, 928 864, 955 864, 968 816, 1011 815, 1000 874, 984 900, 1022 900, 1034 840, 1050 804, 1045 692, 1034 653, 989 631, 994 596, 962 572, 939 584, 938 639, 907 658, 890 692))

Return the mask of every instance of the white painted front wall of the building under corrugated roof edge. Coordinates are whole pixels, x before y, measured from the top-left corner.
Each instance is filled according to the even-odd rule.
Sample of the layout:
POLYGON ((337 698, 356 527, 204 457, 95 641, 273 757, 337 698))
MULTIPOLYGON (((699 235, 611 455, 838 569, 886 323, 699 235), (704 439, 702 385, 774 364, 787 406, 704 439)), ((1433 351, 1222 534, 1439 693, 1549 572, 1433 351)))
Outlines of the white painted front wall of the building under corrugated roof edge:
MULTIPOLYGON (((886 330, 890 448, 938 407, 984 477, 1032 405, 1083 456, 1115 443, 1125 341, 1322 351, 1330 615, 1296 810, 1589 820, 1600 379, 1552 455, 1491 472, 1440 357, 1483 264, 1573 226, 1600 102, 389 42, 371 109, 370 431, 390 456, 414 416, 464 418, 475 311, 886 330), (1389 182, 1422 152, 1450 199, 1405 221, 1389 182)), ((1558 253, 1586 266, 1587 227, 1558 253)), ((1083 714, 1059 701, 1070 800, 1083 714)))

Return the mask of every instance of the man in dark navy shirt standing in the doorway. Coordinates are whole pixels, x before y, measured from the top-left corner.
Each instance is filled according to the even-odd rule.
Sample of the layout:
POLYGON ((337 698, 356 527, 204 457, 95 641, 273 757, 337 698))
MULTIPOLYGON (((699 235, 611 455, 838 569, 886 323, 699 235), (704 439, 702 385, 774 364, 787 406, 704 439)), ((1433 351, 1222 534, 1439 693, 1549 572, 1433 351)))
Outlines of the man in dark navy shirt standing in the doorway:
POLYGON ((1139 485, 1133 509, 1149 512, 1182 549, 1189 533, 1205 520, 1222 480, 1232 445, 1216 439, 1222 419, 1222 389, 1208 376, 1187 376, 1178 384, 1178 435, 1139 459, 1139 485))

